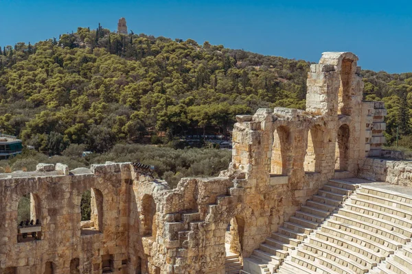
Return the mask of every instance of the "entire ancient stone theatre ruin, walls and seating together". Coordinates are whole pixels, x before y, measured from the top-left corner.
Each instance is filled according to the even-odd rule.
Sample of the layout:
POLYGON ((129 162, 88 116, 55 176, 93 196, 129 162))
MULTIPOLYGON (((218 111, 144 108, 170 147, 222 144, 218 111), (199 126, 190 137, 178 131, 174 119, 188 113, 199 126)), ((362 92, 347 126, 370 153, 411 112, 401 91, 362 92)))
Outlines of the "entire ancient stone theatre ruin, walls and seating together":
POLYGON ((170 189, 112 162, 1 174, 0 273, 412 273, 412 164, 382 158, 386 110, 362 100, 357 60, 323 53, 306 111, 236 116, 219 177, 170 189), (17 223, 23 195, 33 225, 17 223))

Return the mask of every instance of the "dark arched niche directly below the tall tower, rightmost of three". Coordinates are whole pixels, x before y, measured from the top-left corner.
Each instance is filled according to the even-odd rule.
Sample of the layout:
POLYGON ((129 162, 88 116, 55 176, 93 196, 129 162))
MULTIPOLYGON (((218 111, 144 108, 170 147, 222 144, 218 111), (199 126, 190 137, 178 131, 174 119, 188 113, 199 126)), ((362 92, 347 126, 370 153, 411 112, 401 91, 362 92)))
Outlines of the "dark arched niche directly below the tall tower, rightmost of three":
POLYGON ((336 136, 335 170, 347 171, 349 164, 349 137, 348 125, 341 125, 336 136))

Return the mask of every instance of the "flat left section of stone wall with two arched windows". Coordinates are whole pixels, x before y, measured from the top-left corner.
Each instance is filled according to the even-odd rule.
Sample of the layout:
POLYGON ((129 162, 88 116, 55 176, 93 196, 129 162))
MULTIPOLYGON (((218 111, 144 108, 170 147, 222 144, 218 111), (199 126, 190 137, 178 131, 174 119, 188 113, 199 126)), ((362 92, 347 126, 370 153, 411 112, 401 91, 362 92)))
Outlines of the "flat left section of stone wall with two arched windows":
POLYGON ((123 197, 129 177, 128 164, 108 164, 76 175, 12 173, 1 178, 0 270, 47 273, 46 266, 52 265, 54 273, 101 273, 108 256, 114 273, 121 273, 128 261, 128 201, 123 197), (103 197, 100 232, 81 235, 80 200, 91 188, 103 197), (42 236, 18 242, 17 206, 28 193, 38 201, 42 236))

